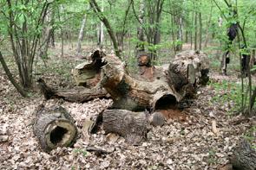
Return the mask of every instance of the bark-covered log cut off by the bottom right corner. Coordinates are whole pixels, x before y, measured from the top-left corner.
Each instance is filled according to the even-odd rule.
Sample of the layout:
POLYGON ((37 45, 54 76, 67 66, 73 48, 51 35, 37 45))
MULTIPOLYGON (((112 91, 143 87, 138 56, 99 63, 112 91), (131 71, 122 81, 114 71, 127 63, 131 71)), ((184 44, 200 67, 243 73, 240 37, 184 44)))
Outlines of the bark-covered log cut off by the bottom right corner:
POLYGON ((256 151, 246 140, 242 140, 237 148, 234 148, 233 155, 230 158, 233 169, 255 170, 256 169, 256 151))

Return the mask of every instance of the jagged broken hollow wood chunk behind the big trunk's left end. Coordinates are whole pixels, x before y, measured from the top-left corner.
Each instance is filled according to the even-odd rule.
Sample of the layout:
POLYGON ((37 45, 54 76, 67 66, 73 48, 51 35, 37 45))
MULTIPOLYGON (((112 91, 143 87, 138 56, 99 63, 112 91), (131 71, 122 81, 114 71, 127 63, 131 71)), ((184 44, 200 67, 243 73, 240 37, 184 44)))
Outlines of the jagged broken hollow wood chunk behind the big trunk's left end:
POLYGON ((76 85, 94 87, 101 79, 101 68, 106 63, 102 61, 102 57, 106 54, 101 49, 96 49, 87 57, 87 61, 75 66, 71 73, 75 79, 76 85))

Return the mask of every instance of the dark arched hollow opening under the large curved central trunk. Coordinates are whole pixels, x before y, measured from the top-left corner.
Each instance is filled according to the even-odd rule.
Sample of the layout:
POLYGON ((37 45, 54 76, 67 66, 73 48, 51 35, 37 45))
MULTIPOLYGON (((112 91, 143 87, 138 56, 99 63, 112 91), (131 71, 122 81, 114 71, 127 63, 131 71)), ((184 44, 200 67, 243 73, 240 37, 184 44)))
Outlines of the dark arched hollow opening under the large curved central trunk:
POLYGON ((163 97, 157 100, 154 106, 154 110, 166 110, 176 104, 177 101, 173 95, 164 95, 163 97))

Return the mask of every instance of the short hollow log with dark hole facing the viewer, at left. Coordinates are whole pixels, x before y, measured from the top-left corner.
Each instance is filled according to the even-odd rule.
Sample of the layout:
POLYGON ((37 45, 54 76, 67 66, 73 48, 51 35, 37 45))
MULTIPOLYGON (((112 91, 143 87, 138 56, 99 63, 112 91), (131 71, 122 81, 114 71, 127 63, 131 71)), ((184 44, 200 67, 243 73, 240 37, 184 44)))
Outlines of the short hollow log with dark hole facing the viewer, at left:
POLYGON ((40 105, 33 121, 34 134, 45 152, 57 147, 69 147, 76 140, 75 120, 62 107, 44 108, 40 105))

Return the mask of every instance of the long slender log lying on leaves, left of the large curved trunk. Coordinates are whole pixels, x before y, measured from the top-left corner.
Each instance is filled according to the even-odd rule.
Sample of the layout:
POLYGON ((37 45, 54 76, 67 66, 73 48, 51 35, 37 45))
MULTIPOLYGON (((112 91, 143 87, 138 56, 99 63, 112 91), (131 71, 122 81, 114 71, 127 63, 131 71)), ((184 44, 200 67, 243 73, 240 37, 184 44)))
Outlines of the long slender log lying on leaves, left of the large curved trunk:
POLYGON ((69 102, 84 103, 95 98, 109 98, 108 92, 104 89, 95 86, 89 89, 85 87, 75 87, 74 89, 58 89, 47 85, 43 79, 38 79, 40 91, 44 98, 62 98, 69 102))

